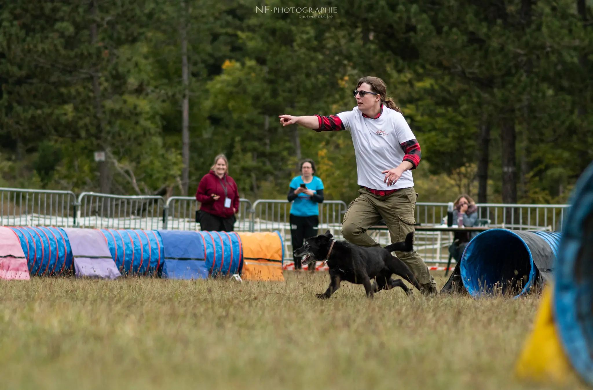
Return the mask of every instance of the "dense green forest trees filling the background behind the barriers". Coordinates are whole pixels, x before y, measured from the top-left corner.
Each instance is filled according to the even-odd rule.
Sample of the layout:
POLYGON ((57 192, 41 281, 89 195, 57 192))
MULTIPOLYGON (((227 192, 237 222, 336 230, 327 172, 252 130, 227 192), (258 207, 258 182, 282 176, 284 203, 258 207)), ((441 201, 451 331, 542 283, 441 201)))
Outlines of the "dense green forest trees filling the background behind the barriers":
POLYGON ((350 134, 281 127, 278 115, 349 111, 356 80, 375 75, 422 147, 420 201, 476 195, 486 120, 489 200, 502 194, 510 121, 519 201, 563 202, 593 160, 593 15, 575 5, 346 0, 325 4, 331 18, 301 18, 251 0, 5 1, 2 185, 98 191, 93 153, 106 150, 111 192, 178 194, 184 30, 190 193, 225 153, 241 196, 284 198, 299 151, 317 161, 327 198, 353 199, 350 134))

